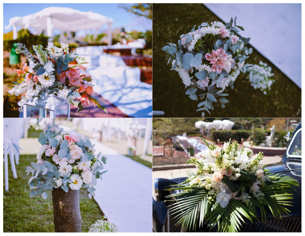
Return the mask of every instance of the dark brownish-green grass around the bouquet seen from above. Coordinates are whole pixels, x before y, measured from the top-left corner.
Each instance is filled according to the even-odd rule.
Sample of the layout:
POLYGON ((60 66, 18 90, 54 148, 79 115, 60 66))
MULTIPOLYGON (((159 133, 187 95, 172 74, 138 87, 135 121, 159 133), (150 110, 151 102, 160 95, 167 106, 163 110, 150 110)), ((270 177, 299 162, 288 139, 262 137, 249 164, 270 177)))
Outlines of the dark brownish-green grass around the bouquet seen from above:
MULTIPOLYGON (((234 13, 228 13, 235 17, 234 13)), ((165 112, 164 117, 201 117, 196 112, 199 101, 185 95, 185 86, 171 66, 164 60, 162 47, 167 42, 178 43, 181 34, 206 21, 220 20, 203 4, 154 4, 153 5, 153 109, 165 112)), ((237 18, 237 24, 243 26, 237 18)), ((250 39, 251 43, 251 39, 250 39)), ((262 42, 263 43, 263 42, 262 42)), ((270 42, 266 42, 270 43, 270 42)), ((300 117, 301 89, 256 50, 246 60, 249 64, 263 61, 272 67, 274 84, 269 94, 254 90, 246 76, 241 73, 228 89, 229 103, 206 113, 206 117, 300 117)), ((301 76, 301 75, 300 75, 301 76)), ((161 117, 161 116, 158 116, 161 117)))

